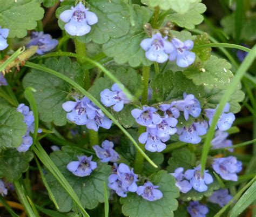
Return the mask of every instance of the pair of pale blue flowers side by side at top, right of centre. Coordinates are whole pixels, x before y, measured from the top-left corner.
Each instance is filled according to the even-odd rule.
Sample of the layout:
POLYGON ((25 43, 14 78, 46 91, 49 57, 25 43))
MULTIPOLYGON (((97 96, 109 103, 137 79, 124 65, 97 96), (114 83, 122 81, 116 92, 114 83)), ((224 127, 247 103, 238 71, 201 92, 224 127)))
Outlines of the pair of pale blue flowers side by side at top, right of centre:
POLYGON ((163 38, 160 33, 156 33, 151 38, 143 39, 140 46, 146 51, 146 58, 157 63, 164 63, 169 59, 176 60, 179 67, 187 67, 196 59, 195 53, 190 51, 194 46, 192 40, 181 42, 178 38, 173 38, 169 42, 167 36, 163 38))

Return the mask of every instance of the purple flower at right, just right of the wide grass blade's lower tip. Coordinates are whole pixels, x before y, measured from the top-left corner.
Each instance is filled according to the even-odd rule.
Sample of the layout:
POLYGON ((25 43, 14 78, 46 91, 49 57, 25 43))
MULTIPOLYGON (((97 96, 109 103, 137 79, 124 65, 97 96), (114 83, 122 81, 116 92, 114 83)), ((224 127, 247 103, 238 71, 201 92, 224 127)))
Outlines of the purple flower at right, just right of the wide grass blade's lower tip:
POLYGON ((242 162, 230 156, 226 158, 215 158, 212 168, 221 178, 225 180, 237 181, 237 173, 242 170, 242 162))

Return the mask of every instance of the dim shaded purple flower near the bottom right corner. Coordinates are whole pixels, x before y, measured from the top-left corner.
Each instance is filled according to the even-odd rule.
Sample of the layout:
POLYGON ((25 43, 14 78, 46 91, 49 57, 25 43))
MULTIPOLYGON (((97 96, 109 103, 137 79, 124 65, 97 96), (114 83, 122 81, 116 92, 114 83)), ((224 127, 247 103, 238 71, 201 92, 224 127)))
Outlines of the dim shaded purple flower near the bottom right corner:
POLYGON ((233 196, 228 194, 228 189, 219 189, 218 191, 213 192, 210 198, 208 198, 208 201, 224 207, 232 198, 233 196))

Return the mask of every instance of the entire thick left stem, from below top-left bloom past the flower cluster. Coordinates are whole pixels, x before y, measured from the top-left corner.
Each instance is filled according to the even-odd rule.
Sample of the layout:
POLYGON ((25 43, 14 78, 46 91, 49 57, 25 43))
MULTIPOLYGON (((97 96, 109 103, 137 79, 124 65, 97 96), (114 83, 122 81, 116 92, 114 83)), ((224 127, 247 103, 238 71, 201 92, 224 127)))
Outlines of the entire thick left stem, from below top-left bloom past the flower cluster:
MULTIPOLYGON (((75 47, 76 47, 76 53, 77 53, 77 62, 80 65, 83 65, 86 62, 86 47, 84 43, 79 42, 77 39, 75 39, 75 47)), ((90 81, 90 74, 89 70, 85 70, 85 77, 84 77, 84 89, 88 90, 91 86, 90 81)), ((94 130, 89 130, 89 138, 90 138, 90 145, 98 145, 99 144, 99 136, 98 132, 95 132, 94 130)))

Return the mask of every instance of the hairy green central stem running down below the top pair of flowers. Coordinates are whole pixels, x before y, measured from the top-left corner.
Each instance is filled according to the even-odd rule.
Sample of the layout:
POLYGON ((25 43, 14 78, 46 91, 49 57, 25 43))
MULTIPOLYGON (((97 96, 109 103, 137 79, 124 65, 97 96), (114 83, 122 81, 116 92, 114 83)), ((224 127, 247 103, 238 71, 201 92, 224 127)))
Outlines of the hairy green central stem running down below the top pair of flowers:
MULTIPOLYGON (((149 73, 150 66, 143 66, 142 68, 142 83, 143 83, 143 92, 142 92, 142 105, 147 104, 147 89, 149 88, 149 73)), ((138 135, 144 133, 146 128, 144 126, 139 126, 138 135)), ((144 144, 139 143, 139 147, 145 151, 144 144)), ((143 170, 143 161, 144 157, 140 152, 136 152, 136 157, 134 161, 134 171, 136 173, 141 173, 143 170)))

